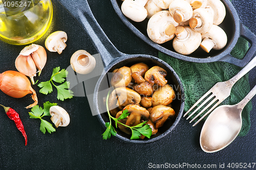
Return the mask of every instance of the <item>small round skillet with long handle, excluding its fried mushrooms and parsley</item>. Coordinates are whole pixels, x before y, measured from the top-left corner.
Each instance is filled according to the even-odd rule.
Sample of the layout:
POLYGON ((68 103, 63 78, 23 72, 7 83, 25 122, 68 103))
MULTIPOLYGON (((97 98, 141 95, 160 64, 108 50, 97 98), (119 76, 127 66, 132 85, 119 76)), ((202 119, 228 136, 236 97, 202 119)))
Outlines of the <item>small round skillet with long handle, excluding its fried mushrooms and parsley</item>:
MULTIPOLYGON (((119 139, 124 140, 125 142, 148 143, 156 141, 172 131, 178 124, 184 109, 183 86, 174 69, 164 61, 153 56, 128 55, 119 52, 98 25, 87 1, 75 0, 72 1, 72 4, 65 2, 64 0, 59 0, 59 2, 61 2, 61 4, 65 6, 66 9, 68 9, 68 11, 82 25, 88 35, 90 35, 90 38, 92 39, 95 47, 101 55, 104 65, 104 71, 96 84, 93 94, 93 102, 94 112, 96 112, 96 115, 103 127, 105 128, 105 123, 109 122, 109 117, 105 112, 106 106, 103 104, 103 96, 106 96, 109 89, 111 89, 111 87, 109 86, 109 80, 111 80, 111 78, 108 78, 108 76, 111 74, 106 73, 112 72, 115 68, 120 68, 124 65, 132 66, 135 63, 144 62, 150 67, 158 65, 167 71, 166 79, 168 81, 168 84, 173 85, 176 92, 176 99, 172 103, 176 115, 172 120, 167 120, 164 126, 159 128, 158 134, 153 135, 151 139, 145 138, 144 140, 130 140, 131 136, 123 133, 119 129, 116 129, 116 136, 119 139)), ((115 124, 113 123, 113 125, 115 124)))

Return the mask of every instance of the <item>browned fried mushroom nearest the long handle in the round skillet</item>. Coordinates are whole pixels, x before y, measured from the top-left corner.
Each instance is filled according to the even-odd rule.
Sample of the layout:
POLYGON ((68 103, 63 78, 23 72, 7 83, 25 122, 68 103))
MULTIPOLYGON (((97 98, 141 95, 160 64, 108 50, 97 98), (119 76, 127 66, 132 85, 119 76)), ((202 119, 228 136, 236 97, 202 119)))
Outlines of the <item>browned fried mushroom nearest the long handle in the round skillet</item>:
POLYGON ((119 68, 111 79, 111 85, 115 88, 126 87, 132 81, 132 70, 130 67, 123 66, 119 68))

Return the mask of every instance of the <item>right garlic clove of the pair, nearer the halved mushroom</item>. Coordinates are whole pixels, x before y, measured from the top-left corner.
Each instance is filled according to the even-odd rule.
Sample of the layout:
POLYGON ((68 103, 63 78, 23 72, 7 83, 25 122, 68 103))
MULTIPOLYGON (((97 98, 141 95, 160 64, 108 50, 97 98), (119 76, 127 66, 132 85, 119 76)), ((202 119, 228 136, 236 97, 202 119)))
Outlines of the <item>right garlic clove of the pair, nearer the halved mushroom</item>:
POLYGON ((32 59, 35 63, 36 68, 38 69, 38 76, 41 74, 42 68, 45 67, 46 61, 47 61, 47 54, 44 47, 40 45, 38 46, 38 49, 35 52, 31 53, 32 59))

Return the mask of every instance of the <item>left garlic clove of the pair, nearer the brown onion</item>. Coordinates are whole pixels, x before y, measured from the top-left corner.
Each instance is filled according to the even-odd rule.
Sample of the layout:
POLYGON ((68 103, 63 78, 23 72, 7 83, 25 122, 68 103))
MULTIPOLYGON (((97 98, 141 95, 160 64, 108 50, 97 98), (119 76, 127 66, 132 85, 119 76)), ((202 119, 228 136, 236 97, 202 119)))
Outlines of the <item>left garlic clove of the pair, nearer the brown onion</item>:
POLYGON ((32 84, 34 84, 34 76, 36 76, 36 67, 31 55, 18 55, 15 60, 15 67, 22 74, 30 77, 32 84))

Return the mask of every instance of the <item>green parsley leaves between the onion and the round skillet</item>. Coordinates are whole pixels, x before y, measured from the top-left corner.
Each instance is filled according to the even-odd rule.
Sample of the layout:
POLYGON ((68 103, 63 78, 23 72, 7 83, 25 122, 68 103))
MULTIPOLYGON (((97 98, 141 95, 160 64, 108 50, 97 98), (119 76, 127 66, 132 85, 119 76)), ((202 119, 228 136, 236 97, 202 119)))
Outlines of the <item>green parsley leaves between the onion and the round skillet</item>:
POLYGON ((73 91, 69 90, 70 82, 65 82, 65 78, 68 76, 68 71, 66 69, 61 69, 60 67, 56 67, 53 69, 52 77, 49 81, 41 82, 38 86, 41 88, 39 90, 40 93, 48 94, 53 91, 52 84, 54 87, 57 88, 57 99, 58 100, 65 100, 73 98, 73 91), (62 83, 60 85, 55 85, 56 83, 62 83), (64 82, 64 83, 63 83, 64 82))

